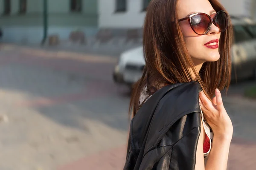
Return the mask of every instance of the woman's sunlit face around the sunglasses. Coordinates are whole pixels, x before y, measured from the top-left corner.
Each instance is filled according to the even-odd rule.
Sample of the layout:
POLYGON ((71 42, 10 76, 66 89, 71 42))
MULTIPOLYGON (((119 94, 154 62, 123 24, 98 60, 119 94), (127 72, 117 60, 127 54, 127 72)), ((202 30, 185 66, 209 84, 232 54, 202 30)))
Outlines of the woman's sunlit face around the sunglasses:
MULTIPOLYGON (((209 0, 179 0, 177 4, 178 19, 187 17, 189 14, 198 12, 206 13, 214 17, 216 11, 212 8, 209 0)), ((217 61, 220 57, 218 47, 215 44, 206 45, 212 40, 219 40, 221 33, 218 27, 212 24, 211 29, 205 35, 196 34, 189 25, 188 20, 180 21, 180 27, 186 43, 186 48, 195 65, 201 65, 204 62, 217 61)), ((219 43, 217 43, 219 44, 219 43)))

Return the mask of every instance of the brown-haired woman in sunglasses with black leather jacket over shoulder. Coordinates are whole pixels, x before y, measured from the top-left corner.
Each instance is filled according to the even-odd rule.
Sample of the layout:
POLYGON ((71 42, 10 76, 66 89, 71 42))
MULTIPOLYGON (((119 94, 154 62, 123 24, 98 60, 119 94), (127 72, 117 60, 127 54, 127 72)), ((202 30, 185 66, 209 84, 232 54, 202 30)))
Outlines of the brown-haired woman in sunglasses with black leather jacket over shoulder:
POLYGON ((227 168, 233 125, 219 90, 230 83, 231 39, 218 0, 151 0, 124 169, 227 168))

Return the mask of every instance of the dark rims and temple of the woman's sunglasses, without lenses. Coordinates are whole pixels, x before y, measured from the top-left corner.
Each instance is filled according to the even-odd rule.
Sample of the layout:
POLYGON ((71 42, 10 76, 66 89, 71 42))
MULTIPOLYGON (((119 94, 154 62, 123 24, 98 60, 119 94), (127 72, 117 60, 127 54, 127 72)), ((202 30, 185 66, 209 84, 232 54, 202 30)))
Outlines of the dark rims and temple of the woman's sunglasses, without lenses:
MULTIPOLYGON (((207 16, 207 17, 210 19, 210 26, 209 26, 209 28, 208 28, 208 30, 206 31, 206 33, 204 33, 204 34, 198 34, 198 35, 205 35, 205 34, 207 34, 207 33, 210 31, 210 29, 211 29, 211 27, 212 27, 212 23, 216 26, 216 23, 215 23, 215 16, 216 16, 218 13, 220 13, 220 12, 224 12, 224 13, 227 15, 227 20, 228 20, 228 14, 227 14, 226 11, 218 11, 218 12, 214 15, 213 18, 210 17, 208 14, 199 12, 199 13, 195 13, 195 14, 190 14, 190 15, 188 15, 188 16, 185 17, 185 18, 179 19, 178 21, 180 22, 180 21, 188 20, 188 21, 189 21, 189 25, 190 25, 190 27, 192 28, 192 30, 195 32, 195 34, 198 34, 198 33, 194 30, 194 28, 193 28, 193 26, 192 26, 192 24, 191 24, 191 18, 194 17, 195 15, 198 15, 198 14, 207 16)), ((228 24, 227 24, 227 26, 228 26, 228 24)), ((224 31, 226 31, 226 30, 227 30, 227 27, 225 28, 224 31)), ((219 31, 220 31, 220 28, 219 28, 219 31)), ((220 32, 224 32, 224 31, 220 31, 220 32)))

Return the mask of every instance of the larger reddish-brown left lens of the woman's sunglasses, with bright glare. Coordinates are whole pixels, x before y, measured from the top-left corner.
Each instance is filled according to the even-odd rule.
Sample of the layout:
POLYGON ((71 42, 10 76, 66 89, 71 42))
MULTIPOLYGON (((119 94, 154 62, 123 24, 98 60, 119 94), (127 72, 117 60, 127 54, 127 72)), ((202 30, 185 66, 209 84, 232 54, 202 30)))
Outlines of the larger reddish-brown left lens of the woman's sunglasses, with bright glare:
POLYGON ((211 26, 209 17, 203 14, 198 14, 190 18, 191 26, 197 34, 206 34, 211 26))

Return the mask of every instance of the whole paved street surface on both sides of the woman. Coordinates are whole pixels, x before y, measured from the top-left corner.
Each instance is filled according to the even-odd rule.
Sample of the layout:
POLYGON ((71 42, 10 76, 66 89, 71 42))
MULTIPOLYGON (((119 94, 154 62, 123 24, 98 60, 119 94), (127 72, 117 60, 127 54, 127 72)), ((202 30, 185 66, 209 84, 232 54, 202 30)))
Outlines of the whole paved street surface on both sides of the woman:
MULTIPOLYGON (((120 170, 129 89, 113 82, 116 57, 0 47, 0 170, 120 170)), ((255 85, 250 82, 248 85, 255 85)), ((256 100, 223 96, 234 126, 229 170, 254 170, 256 100)))

